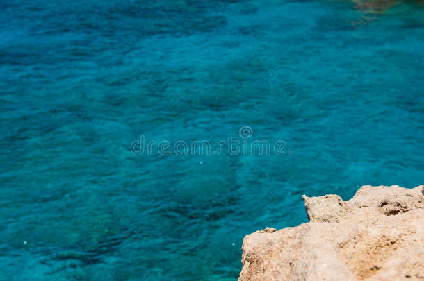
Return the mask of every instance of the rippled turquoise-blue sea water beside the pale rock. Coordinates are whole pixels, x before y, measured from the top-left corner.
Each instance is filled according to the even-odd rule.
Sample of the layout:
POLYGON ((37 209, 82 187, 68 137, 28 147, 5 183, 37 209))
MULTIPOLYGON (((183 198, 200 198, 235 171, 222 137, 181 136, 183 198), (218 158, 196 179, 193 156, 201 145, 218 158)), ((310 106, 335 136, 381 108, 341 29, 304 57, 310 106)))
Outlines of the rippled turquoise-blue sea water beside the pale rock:
POLYGON ((302 194, 423 183, 414 2, 0 8, 4 280, 235 280, 245 235, 307 221, 302 194), (241 126, 286 155, 130 151, 241 126))

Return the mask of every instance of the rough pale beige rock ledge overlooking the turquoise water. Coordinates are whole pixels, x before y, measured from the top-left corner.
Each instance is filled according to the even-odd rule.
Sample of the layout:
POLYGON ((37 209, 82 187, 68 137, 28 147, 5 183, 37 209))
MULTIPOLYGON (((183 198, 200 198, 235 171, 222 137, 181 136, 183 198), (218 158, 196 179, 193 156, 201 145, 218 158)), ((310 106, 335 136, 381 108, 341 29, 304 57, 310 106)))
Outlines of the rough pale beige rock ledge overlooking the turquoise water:
POLYGON ((302 196, 309 223, 243 239, 244 280, 424 280, 424 186, 302 196))

